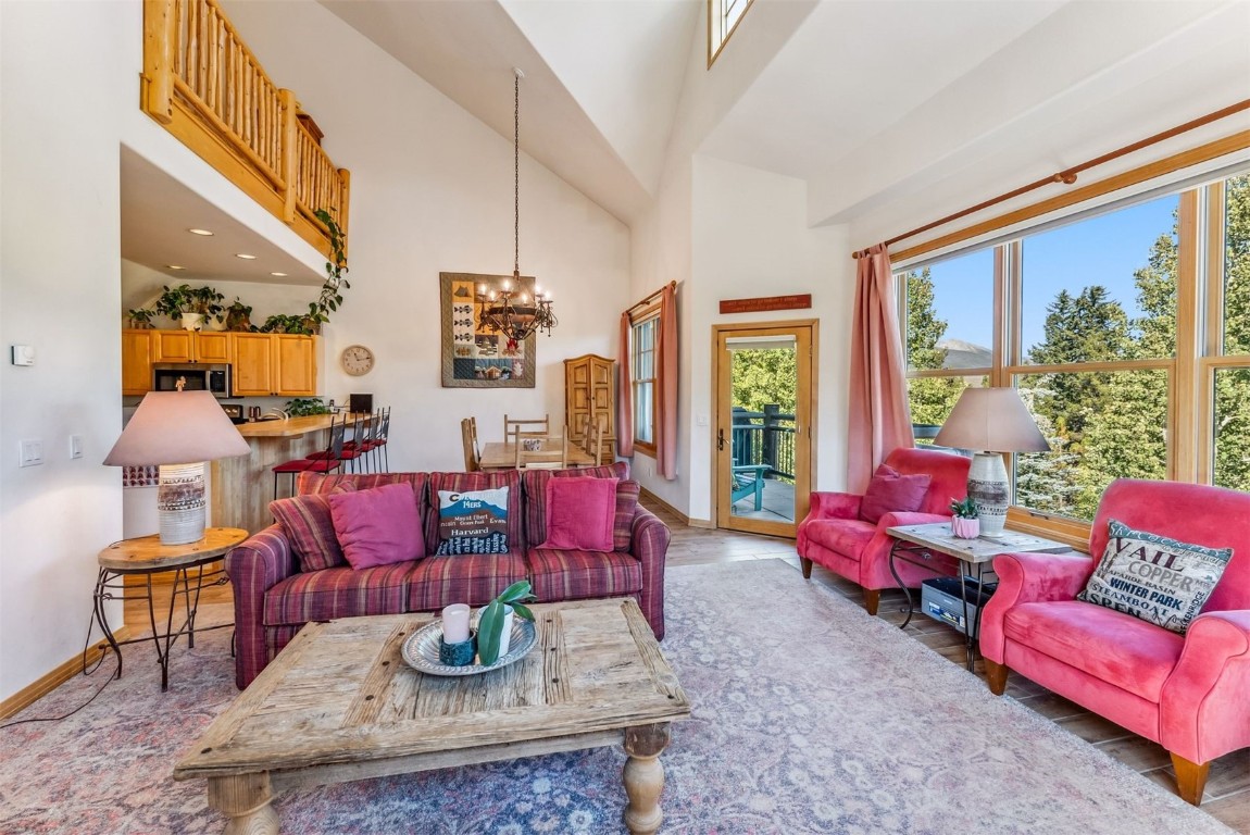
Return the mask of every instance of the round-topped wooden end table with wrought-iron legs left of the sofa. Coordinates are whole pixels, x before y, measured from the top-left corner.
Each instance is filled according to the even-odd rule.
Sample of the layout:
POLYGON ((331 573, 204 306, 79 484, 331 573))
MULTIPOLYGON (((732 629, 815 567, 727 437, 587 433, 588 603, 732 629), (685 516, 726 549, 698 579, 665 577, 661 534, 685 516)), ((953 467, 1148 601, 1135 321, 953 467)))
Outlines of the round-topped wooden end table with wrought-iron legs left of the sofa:
MULTIPOLYGON (((161 545, 160 536, 152 534, 151 536, 124 539, 100 551, 98 556, 100 574, 95 581, 92 615, 95 622, 100 625, 105 640, 109 641, 109 646, 118 654, 119 679, 121 678, 121 645, 148 639, 134 638, 119 641, 114 636, 112 629, 109 628, 104 605, 110 600, 148 600, 148 620, 152 628, 151 641, 156 645, 156 660, 160 662, 160 689, 161 691, 169 690, 169 651, 178 636, 184 632, 188 646, 195 646, 195 612, 200 606, 200 590, 204 588, 204 581, 212 579, 211 585, 226 582, 225 569, 216 568, 205 572, 204 566, 220 560, 245 539, 248 539, 248 531, 241 528, 209 528, 204 531, 204 539, 185 545, 161 545), (190 581, 192 569, 195 569, 194 589, 190 581), (156 631, 156 608, 152 602, 152 575, 162 571, 174 571, 174 586, 169 596, 169 615, 165 619, 164 634, 156 631), (145 576, 144 594, 126 594, 125 576, 128 574, 145 576), (114 594, 115 590, 120 594, 114 594), (186 619, 175 631, 174 609, 179 595, 182 595, 186 619)), ((229 626, 229 624, 226 625, 229 626)), ((211 626, 210 629, 221 628, 211 626)), ((90 639, 89 630, 88 644, 91 642, 90 639)))

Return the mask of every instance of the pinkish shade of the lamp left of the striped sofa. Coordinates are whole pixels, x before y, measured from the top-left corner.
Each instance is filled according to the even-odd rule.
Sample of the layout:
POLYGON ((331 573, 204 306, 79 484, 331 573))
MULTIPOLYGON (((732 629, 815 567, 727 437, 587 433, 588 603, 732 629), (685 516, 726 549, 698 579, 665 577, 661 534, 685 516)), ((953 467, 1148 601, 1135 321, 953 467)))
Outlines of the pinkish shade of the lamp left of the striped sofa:
POLYGON ((195 464, 250 451, 209 391, 150 391, 130 418, 105 464, 195 464))

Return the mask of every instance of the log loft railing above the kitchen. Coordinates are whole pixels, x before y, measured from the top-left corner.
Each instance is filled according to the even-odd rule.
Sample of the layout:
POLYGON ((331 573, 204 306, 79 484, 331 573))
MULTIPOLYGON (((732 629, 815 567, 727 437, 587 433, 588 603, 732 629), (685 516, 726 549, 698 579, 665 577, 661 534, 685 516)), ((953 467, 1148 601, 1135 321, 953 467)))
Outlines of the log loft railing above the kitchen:
POLYGON ((144 112, 301 238, 329 252, 325 210, 348 230, 350 175, 215 0, 144 0, 144 112))

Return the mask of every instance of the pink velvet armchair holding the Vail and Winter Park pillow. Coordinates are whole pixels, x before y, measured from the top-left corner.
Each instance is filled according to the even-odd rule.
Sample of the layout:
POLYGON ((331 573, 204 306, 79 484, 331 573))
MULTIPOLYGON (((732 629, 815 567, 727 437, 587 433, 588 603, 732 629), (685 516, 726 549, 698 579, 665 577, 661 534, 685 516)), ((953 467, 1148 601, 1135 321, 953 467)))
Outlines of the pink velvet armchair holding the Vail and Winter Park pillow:
POLYGON ((990 689, 1008 670, 1154 740, 1180 796, 1198 805, 1211 760, 1250 745, 1250 494, 1175 481, 1114 481, 1090 554, 1006 554, 985 606, 990 689), (1231 548, 1219 584, 1184 634, 1076 600, 1102 555, 1108 520, 1206 548, 1231 548))

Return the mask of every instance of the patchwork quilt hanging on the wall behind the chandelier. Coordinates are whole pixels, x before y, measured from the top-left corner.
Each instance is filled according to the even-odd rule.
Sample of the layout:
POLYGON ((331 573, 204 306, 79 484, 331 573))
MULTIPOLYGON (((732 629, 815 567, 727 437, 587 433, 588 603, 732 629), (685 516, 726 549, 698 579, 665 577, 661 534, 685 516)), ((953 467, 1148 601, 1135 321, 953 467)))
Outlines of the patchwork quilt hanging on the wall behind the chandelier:
MULTIPOLYGON (((498 295, 504 281, 512 276, 439 274, 444 389, 534 388, 534 335, 514 342, 481 321, 479 296, 498 295)), ((518 290, 532 298, 534 276, 522 275, 518 290)))

